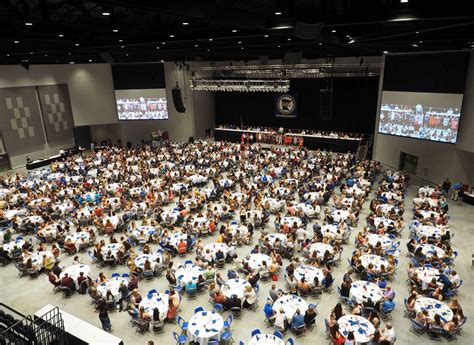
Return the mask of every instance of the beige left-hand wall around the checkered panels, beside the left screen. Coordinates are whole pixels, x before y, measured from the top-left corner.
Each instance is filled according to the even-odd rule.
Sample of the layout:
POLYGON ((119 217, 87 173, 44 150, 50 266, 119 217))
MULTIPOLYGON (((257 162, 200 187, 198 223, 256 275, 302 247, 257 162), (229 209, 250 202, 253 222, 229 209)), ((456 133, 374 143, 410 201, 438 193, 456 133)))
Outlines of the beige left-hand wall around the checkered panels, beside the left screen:
MULTIPOLYGON (((0 88, 67 83, 76 126, 117 121, 115 96, 110 66, 88 65, 31 65, 27 71, 21 66, 0 66, 0 88), (98 116, 100 114, 100 116, 98 116)), ((74 138, 47 143, 36 150, 25 150, 10 157, 12 167, 24 166, 25 156, 38 159, 57 154, 62 148, 74 145, 74 138)))

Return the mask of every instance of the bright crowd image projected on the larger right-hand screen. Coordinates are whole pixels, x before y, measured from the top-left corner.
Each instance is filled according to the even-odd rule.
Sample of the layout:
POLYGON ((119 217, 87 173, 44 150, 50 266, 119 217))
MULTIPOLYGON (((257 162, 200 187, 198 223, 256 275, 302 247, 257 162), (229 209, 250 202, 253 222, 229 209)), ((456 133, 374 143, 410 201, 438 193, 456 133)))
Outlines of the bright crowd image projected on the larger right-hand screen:
POLYGON ((422 104, 382 104, 379 132, 391 135, 455 143, 460 109, 422 104))

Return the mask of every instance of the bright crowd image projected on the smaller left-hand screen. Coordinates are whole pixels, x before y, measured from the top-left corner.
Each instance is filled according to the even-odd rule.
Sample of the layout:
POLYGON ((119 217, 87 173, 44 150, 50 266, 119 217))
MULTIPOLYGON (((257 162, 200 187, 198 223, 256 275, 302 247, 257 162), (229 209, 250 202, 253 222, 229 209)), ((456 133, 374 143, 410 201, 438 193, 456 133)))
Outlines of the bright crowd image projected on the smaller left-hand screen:
POLYGON ((168 118, 166 98, 118 98, 119 120, 162 120, 168 118))

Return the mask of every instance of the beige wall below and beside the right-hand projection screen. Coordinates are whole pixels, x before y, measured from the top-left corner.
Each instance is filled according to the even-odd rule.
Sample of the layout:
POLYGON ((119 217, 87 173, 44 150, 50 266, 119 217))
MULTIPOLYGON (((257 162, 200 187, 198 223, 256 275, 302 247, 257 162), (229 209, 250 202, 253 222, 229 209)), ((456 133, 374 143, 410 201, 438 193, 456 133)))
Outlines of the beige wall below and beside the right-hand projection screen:
MULTIPOLYGON (((383 75, 383 70, 381 75, 383 75)), ((382 80, 382 77, 381 77, 382 80)), ((379 87, 379 104, 382 97, 382 82, 379 87)), ((433 183, 441 183, 446 177, 474 185, 474 64, 471 58, 462 107, 461 126, 458 143, 443 144, 426 140, 395 137, 378 134, 378 116, 376 117, 373 159, 398 168, 400 152, 418 157, 417 176, 433 183), (463 128, 464 127, 464 128, 463 128)))

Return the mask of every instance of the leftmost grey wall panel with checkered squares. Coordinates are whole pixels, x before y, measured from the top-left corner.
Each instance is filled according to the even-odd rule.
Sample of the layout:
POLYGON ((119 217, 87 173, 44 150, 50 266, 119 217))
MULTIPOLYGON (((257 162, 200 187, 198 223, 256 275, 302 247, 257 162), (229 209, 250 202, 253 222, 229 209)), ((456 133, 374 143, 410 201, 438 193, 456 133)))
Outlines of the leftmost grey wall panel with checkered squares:
POLYGON ((0 129, 10 155, 45 143, 34 86, 0 89, 0 129))

